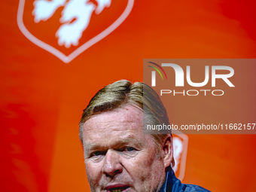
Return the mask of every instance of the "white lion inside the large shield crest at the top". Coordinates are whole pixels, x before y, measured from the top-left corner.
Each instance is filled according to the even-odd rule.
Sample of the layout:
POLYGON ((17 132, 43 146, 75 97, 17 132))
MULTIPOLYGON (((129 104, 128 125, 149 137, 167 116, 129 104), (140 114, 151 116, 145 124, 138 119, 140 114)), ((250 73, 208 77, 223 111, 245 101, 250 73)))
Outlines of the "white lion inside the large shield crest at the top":
POLYGON ((58 44, 69 48, 77 46, 83 32, 90 23, 90 17, 95 11, 100 14, 104 8, 109 8, 111 0, 96 0, 97 5, 90 0, 35 0, 34 15, 35 23, 46 21, 53 16, 57 8, 64 6, 62 17, 59 19, 62 26, 56 32, 58 44))

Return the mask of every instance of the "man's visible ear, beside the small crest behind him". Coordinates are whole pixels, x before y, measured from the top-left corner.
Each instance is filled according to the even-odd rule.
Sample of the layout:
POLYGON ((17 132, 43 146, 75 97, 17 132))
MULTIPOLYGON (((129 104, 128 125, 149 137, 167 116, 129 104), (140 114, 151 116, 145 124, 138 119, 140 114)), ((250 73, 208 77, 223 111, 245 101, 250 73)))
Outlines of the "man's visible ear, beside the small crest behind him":
POLYGON ((172 163, 172 136, 170 134, 163 143, 163 163, 165 168, 172 163))

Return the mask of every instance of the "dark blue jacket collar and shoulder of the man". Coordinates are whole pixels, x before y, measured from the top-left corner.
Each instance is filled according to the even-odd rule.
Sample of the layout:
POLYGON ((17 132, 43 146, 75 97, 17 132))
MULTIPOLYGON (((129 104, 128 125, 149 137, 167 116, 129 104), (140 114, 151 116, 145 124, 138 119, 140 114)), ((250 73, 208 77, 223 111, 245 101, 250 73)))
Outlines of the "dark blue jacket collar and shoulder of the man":
POLYGON ((181 184, 171 169, 166 173, 166 181, 160 192, 210 192, 210 190, 195 184, 181 184))

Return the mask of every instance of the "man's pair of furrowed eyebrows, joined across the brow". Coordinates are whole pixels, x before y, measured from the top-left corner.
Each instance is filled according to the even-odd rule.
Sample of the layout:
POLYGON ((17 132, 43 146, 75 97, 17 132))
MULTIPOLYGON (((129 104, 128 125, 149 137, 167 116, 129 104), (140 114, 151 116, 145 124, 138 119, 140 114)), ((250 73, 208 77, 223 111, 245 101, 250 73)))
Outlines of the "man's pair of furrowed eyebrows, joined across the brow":
MULTIPOLYGON (((115 141, 114 143, 111 144, 112 148, 117 148, 118 146, 121 145, 125 145, 128 144, 129 142, 134 142, 134 145, 136 145, 137 148, 141 148, 142 147, 142 142, 139 142, 138 139, 135 138, 135 136, 127 136, 126 138, 123 139, 118 139, 117 141, 115 141)), ((84 152, 89 152, 89 151, 93 151, 96 149, 106 149, 108 148, 108 146, 106 145, 98 145, 98 144, 94 144, 94 143, 87 143, 86 145, 84 145, 84 152)))

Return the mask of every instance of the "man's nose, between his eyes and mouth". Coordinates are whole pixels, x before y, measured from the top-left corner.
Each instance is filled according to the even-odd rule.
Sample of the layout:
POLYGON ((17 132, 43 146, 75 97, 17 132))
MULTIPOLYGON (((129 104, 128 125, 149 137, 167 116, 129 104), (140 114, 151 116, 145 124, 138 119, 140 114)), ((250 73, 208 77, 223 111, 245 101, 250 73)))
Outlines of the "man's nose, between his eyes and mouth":
POLYGON ((120 154, 118 151, 108 150, 105 154, 104 165, 102 167, 102 172, 113 178, 114 175, 117 175, 120 172, 123 172, 123 166, 120 163, 120 154))

